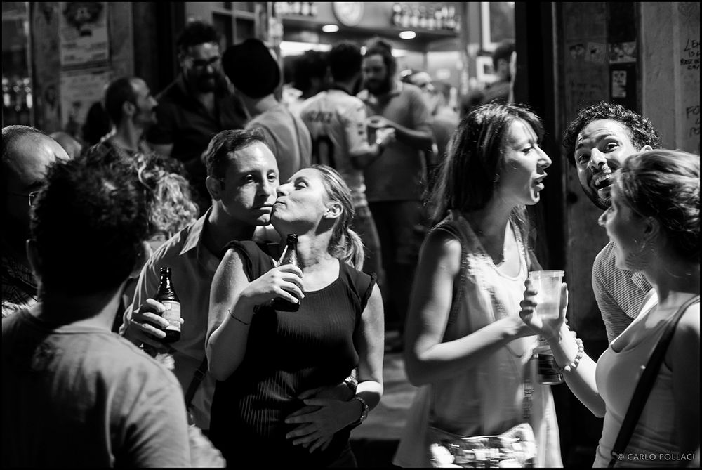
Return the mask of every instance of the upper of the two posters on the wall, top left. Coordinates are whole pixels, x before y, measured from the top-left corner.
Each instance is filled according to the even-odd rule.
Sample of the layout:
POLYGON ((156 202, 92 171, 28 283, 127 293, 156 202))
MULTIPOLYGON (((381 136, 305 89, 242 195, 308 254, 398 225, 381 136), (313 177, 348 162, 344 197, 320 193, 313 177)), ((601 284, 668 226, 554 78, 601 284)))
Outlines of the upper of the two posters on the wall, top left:
POLYGON ((107 2, 67 1, 58 5, 61 67, 106 65, 110 58, 107 2))

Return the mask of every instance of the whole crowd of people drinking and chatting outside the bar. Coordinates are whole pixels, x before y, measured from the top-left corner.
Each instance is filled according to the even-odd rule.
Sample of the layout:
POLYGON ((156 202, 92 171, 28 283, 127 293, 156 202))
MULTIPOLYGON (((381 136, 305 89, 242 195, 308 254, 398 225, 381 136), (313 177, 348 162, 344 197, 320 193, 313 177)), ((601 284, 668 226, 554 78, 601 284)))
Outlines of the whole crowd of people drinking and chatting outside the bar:
POLYGON ((252 466, 272 453, 357 466, 351 431, 383 397, 385 353, 404 351, 418 391, 396 465, 446 464, 437 429, 528 424, 532 464, 559 467, 540 340, 604 417, 594 466, 623 428, 626 455, 649 457, 617 464, 698 458, 698 155, 661 148, 648 119, 613 103, 567 126, 564 153, 610 240, 592 266, 609 339, 594 360, 565 321, 580 308, 567 285, 542 318, 529 280, 541 265, 527 207, 555 156, 541 118, 512 103, 513 44, 494 59, 504 83, 460 120, 382 39, 301 56, 290 104, 262 41, 220 51, 211 25, 190 22, 176 46, 180 73, 157 96, 138 77, 107 85, 111 126, 94 143, 3 128, 4 466, 252 466), (279 263, 289 234, 296 264, 279 263), (168 343, 154 299, 166 267, 182 316, 168 343))

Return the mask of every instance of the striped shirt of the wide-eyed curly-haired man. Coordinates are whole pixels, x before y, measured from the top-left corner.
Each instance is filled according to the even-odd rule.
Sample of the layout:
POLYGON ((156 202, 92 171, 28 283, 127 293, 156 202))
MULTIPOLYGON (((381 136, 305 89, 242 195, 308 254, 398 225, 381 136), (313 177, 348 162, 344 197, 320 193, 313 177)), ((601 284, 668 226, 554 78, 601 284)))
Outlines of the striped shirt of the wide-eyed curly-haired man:
POLYGON ((621 270, 615 261, 614 242, 609 242, 592 265, 592 290, 610 343, 637 317, 653 288, 642 273, 621 270))

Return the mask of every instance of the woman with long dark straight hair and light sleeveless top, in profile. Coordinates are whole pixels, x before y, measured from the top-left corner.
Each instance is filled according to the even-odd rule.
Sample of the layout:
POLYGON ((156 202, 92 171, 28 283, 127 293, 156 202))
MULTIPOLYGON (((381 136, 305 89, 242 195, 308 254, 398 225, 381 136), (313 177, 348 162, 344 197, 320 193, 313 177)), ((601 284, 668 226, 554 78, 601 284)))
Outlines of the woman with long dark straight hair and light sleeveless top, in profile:
POLYGON ((443 220, 420 252, 406 321, 406 372, 420 390, 395 465, 431 466, 432 428, 479 436, 527 422, 534 464, 562 466, 550 389, 531 360, 536 336, 518 315, 534 261, 526 206, 551 164, 541 136, 519 105, 478 107, 453 133, 435 188, 443 220))

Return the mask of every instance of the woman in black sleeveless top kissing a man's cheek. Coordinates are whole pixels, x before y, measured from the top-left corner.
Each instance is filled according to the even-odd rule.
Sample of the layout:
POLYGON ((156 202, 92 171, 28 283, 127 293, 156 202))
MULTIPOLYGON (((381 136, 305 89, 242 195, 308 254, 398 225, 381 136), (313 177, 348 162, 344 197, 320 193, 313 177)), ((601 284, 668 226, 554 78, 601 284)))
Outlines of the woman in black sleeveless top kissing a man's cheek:
POLYGON ((273 455, 286 466, 356 464, 350 429, 383 394, 384 328, 352 218, 347 185, 317 165, 279 186, 271 212, 283 242, 296 235, 298 266, 276 263, 254 242, 227 245, 212 283, 206 353, 218 379, 211 439, 230 465, 273 455), (350 400, 305 398, 356 368, 350 400))

